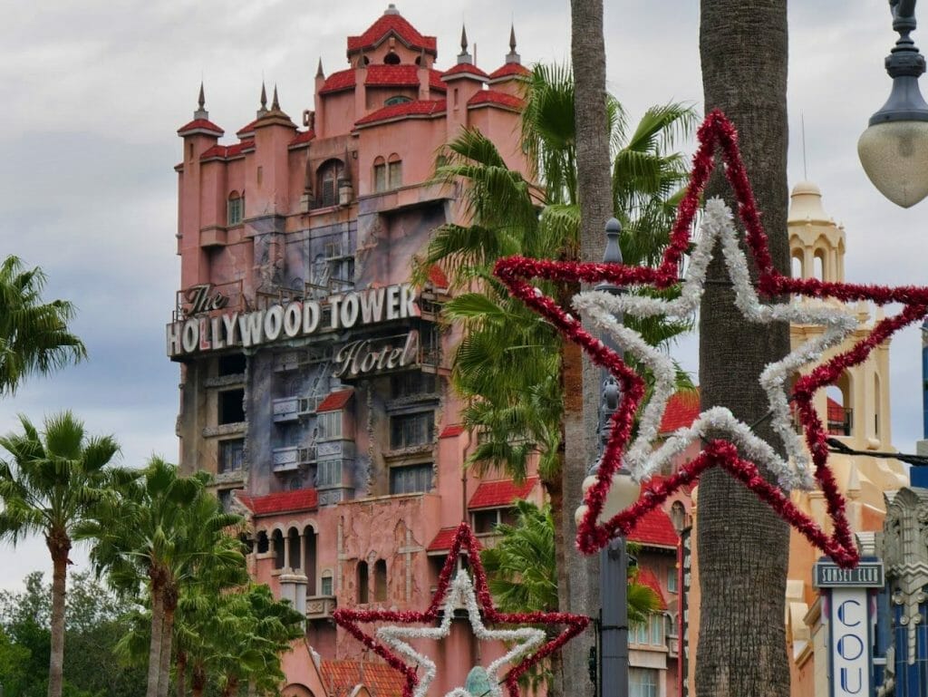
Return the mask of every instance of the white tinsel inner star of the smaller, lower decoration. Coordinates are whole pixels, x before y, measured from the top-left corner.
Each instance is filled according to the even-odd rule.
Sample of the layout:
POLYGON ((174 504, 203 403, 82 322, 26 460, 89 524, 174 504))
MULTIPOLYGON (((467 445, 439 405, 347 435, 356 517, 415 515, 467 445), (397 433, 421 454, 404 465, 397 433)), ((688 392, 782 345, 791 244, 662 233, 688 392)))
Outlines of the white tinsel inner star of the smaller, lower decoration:
MULTIPOLYGON (((451 631, 451 620, 454 616, 455 608, 458 607, 458 599, 463 600, 467 608, 470 626, 473 628, 474 636, 483 641, 514 641, 516 642, 505 655, 500 656, 493 663, 486 666, 486 676, 489 678, 492 697, 502 697, 502 691, 499 687, 499 677, 496 675, 498 670, 507 663, 518 658, 524 653, 531 652, 533 649, 544 643, 545 631, 535 627, 519 627, 518 629, 487 629, 483 626, 483 617, 480 614, 480 608, 477 604, 477 597, 473 592, 473 584, 470 582, 470 576, 464 570, 459 570, 455 580, 448 587, 445 595, 445 613, 442 616, 442 624, 436 627, 411 627, 411 626, 381 626, 377 630, 378 639, 387 644, 397 653, 402 654, 411 661, 415 661, 422 666, 425 673, 419 679, 419 685, 413 693, 414 697, 424 697, 429 691, 429 686, 435 678, 435 663, 428 656, 416 651, 412 646, 403 639, 445 639, 451 631)), ((481 695, 470 695, 470 692, 464 688, 458 687, 447 692, 445 697, 482 697, 481 695)))

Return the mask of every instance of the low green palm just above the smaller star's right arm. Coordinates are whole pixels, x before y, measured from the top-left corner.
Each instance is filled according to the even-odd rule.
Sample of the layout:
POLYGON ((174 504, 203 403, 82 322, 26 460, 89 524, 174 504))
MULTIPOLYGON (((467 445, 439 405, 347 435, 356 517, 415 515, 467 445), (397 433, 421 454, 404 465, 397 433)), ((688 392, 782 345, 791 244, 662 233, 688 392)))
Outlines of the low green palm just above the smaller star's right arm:
MULTIPOLYGON (((496 525, 501 538, 496 545, 480 553, 487 584, 496 607, 504 613, 550 612, 558 609, 558 577, 555 571, 554 518, 551 508, 539 508, 531 501, 515 501, 515 523, 496 525)), ((634 547, 634 546, 630 546, 634 547)), ((635 549, 631 549, 635 553, 635 549)), ((660 599, 651 587, 636 581, 637 569, 629 570, 628 622, 640 625, 648 621, 651 613, 660 610, 660 599)), ((551 656, 552 670, 560 670, 561 656, 551 656)), ((537 687, 540 681, 548 682, 552 672, 543 670, 531 676, 537 687)), ((548 682, 548 693, 557 685, 548 682)), ((573 693, 574 691, 571 691, 573 693)))

